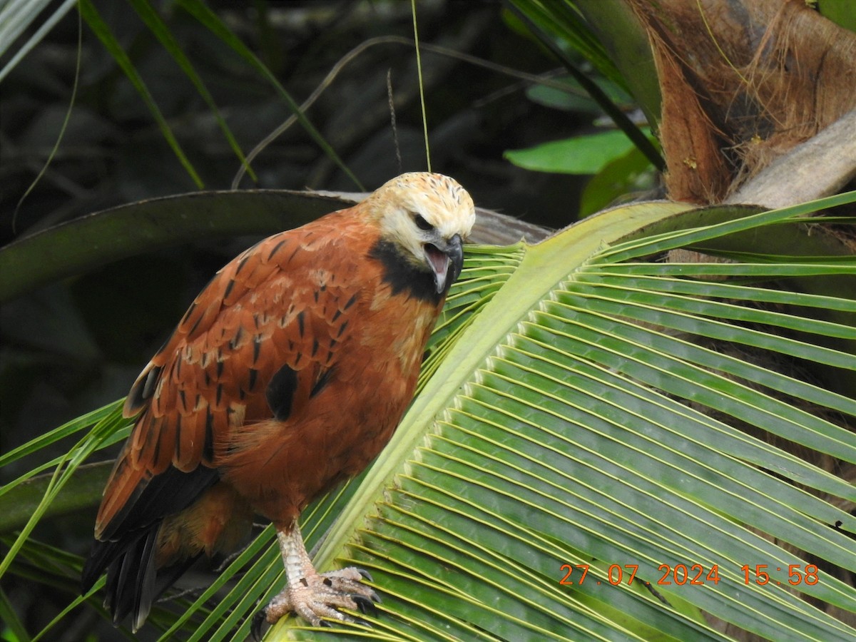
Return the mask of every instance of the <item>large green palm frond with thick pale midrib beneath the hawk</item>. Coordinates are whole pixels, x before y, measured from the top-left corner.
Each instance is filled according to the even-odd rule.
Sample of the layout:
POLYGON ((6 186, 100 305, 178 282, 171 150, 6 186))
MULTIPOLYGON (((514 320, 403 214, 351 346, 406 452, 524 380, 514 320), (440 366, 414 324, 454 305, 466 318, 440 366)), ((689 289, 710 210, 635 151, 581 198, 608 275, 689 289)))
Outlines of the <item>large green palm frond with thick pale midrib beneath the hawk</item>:
MULTIPOLYGON (((770 639, 853 634, 783 586, 791 564, 805 580, 805 559, 856 568, 847 535, 856 520, 822 498, 853 502, 856 490, 735 426, 856 461, 853 432, 830 420, 856 414, 853 399, 751 359, 788 354, 853 372, 853 354, 817 342, 852 341, 853 325, 812 311, 853 314, 856 302, 769 282, 852 279, 856 262, 665 263, 670 249, 736 243, 795 226, 805 212, 668 210, 631 205, 526 247, 522 258, 503 251, 514 274, 444 347, 319 553, 322 564, 336 558, 374 576, 386 599, 369 637, 720 638, 702 610, 770 639), (559 584, 563 564, 574 568, 573 586, 559 584), (577 584, 584 564, 590 573, 577 584), (679 586, 674 574, 671 586, 657 585, 663 564, 699 565, 704 585, 679 586), (767 585, 756 583, 758 564, 767 585), (616 586, 613 565, 613 580, 624 574, 616 586), (705 580, 714 566, 718 583, 705 580)), ((472 287, 461 282, 461 299, 472 287)), ((856 609, 852 586, 820 578, 796 588, 856 609)))

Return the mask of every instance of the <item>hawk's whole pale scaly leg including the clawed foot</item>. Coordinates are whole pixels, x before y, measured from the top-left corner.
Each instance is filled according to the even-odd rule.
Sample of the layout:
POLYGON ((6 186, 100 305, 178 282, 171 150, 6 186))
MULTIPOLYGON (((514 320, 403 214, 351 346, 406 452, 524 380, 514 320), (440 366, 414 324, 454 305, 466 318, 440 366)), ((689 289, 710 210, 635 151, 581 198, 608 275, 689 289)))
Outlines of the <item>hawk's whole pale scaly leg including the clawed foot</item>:
POLYGON ((276 539, 282 551, 288 584, 265 609, 265 619, 270 624, 290 612, 300 615, 314 627, 322 624, 321 618, 354 621, 354 618, 336 610, 340 607, 362 613, 375 612, 374 603, 380 602, 380 597, 360 582, 364 578, 372 579, 366 571, 348 567, 318 573, 306 553, 296 521, 290 530, 277 531, 276 539))

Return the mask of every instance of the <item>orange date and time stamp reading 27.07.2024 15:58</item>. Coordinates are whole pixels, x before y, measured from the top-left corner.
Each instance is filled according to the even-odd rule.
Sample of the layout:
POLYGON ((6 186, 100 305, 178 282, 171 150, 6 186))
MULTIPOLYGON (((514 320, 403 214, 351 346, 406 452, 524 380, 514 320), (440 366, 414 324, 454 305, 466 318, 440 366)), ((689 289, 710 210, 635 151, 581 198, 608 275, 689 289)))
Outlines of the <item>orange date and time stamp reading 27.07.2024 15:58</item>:
MULTIPOLYGON (((573 585, 582 584, 586 581, 590 566, 588 564, 562 564, 559 570, 564 574, 559 584, 573 585)), ((799 584, 815 585, 820 581, 819 570, 817 564, 788 564, 784 569, 781 566, 775 568, 777 574, 781 574, 783 570, 787 570, 787 578, 784 575, 770 575, 773 568, 769 564, 756 564, 749 566, 744 564, 740 567, 743 573, 744 584, 789 584, 797 586, 799 584), (776 577, 781 579, 776 580, 776 577)), ((667 585, 704 585, 704 584, 719 584, 719 565, 714 564, 710 568, 705 568, 702 564, 660 564, 657 570, 662 573, 660 578, 655 582, 657 586, 667 585)), ((622 582, 627 585, 633 584, 636 579, 636 573, 639 571, 639 564, 610 564, 607 569, 606 579, 609 584, 616 586, 622 582)), ((589 580, 591 582, 591 580, 589 580)), ((600 584, 600 580, 595 580, 600 584)), ((651 585, 651 582, 643 581, 645 585, 651 585)))

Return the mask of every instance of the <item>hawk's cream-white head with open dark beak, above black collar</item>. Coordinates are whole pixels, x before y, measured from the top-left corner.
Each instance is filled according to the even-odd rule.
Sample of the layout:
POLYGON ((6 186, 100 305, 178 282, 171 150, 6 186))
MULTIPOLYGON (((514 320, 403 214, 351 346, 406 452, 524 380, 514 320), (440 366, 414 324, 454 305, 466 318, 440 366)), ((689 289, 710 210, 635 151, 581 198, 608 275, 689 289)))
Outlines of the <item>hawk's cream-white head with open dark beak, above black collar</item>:
POLYGON ((366 205, 385 250, 394 252, 407 271, 431 274, 436 293, 445 294, 461 274, 461 243, 475 223, 467 190, 449 176, 411 172, 384 183, 366 205))

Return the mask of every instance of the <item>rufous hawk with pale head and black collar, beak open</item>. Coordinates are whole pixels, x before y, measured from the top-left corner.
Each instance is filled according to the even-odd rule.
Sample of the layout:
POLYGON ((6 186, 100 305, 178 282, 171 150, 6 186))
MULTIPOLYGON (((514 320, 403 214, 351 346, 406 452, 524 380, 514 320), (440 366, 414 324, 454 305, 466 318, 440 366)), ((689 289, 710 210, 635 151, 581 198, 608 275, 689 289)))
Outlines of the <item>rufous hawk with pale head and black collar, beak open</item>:
POLYGON ((276 526, 288 577, 267 621, 371 606, 358 569, 313 568, 297 519, 395 431, 474 220, 456 181, 404 174, 217 272, 125 403, 134 429, 82 576, 88 591, 106 571, 115 622, 139 628, 196 558, 240 545, 255 514, 276 526))

